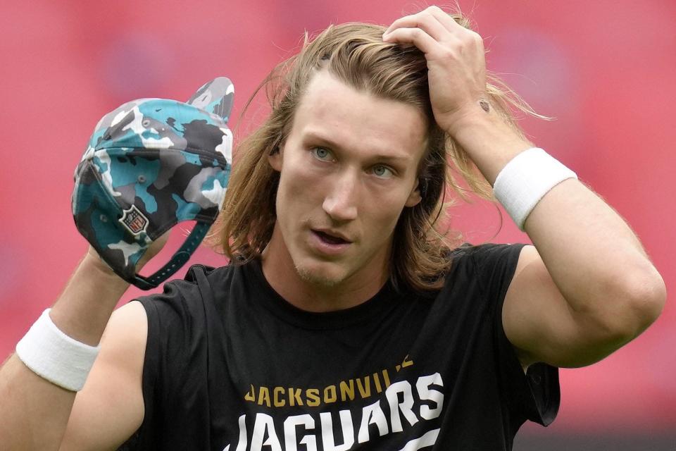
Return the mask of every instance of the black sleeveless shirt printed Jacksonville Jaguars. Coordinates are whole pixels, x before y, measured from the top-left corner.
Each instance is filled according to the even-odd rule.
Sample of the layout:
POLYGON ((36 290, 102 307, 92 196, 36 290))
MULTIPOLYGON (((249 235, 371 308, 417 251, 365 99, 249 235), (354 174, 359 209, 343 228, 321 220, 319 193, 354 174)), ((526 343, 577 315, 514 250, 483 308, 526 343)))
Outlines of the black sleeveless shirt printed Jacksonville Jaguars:
POLYGON ((442 290, 385 285, 293 307, 244 266, 193 266, 148 314, 145 416, 121 450, 511 450, 558 411, 558 370, 522 371, 501 311, 522 245, 461 247, 442 290))

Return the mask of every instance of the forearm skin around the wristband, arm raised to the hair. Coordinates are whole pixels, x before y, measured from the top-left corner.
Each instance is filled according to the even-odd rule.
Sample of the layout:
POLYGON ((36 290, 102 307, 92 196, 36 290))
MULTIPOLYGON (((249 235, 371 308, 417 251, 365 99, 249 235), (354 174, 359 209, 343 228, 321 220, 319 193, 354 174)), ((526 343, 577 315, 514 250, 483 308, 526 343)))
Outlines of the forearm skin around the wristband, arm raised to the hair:
MULTIPOLYGON (((532 147, 499 118, 474 116, 454 135, 489 183, 532 147)), ((627 338, 661 310, 663 282, 625 221, 575 179, 540 199, 525 222, 534 246, 570 309, 627 338)))

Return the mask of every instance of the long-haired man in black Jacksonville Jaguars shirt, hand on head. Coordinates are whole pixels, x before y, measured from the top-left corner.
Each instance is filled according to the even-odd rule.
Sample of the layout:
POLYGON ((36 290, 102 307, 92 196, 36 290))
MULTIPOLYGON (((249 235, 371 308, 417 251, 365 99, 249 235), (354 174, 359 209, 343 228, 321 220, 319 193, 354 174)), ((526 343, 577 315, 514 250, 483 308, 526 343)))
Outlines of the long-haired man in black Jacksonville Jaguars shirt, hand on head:
POLYGON ((441 9, 330 28, 280 70, 224 206, 237 265, 111 317, 128 285, 89 252, 49 316, 101 352, 77 395, 11 357, 4 447, 508 450, 523 421, 556 415, 556 366, 602 359, 660 313, 630 228, 532 149, 481 38, 441 9), (533 247, 445 247, 446 152, 533 247))

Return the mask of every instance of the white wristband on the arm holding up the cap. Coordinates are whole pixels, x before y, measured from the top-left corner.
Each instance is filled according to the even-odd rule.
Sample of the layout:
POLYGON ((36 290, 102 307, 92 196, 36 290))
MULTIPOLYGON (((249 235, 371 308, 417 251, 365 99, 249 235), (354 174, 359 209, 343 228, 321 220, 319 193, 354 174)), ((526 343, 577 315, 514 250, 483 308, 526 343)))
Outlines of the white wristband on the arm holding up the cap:
POLYGON ((84 386, 101 346, 89 346, 70 338, 56 327, 49 311, 42 312, 16 345, 16 355, 38 376, 66 390, 84 386))

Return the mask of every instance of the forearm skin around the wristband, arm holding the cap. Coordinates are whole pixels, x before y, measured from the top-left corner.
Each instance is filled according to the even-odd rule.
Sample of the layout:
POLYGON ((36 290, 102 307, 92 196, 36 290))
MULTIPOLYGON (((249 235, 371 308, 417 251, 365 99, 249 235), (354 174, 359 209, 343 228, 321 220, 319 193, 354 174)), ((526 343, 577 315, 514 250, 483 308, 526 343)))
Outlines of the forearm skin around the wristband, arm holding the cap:
MULTIPOLYGON (((56 326, 71 338, 97 345, 128 284, 106 271, 91 254, 77 267, 51 310, 56 326)), ((13 355, 0 369, 0 443, 3 449, 58 449, 75 392, 37 376, 13 355)))

